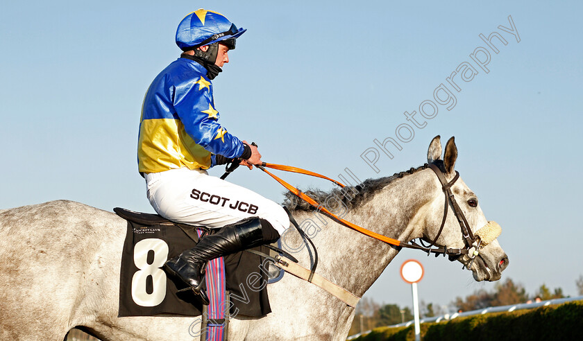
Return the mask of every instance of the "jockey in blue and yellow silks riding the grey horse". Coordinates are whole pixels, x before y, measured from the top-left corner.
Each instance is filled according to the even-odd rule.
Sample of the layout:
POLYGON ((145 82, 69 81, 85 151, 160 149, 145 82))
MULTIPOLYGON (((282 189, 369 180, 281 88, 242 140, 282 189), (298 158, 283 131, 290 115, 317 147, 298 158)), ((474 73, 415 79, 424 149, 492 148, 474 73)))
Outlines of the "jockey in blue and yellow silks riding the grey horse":
POLYGON ((208 260, 273 243, 289 227, 280 205, 206 171, 228 159, 239 159, 250 169, 262 162, 257 147, 219 123, 212 94, 211 80, 229 62, 228 51, 245 31, 210 10, 187 15, 176 30, 183 53, 156 76, 142 104, 137 156, 152 207, 169 220, 216 231, 163 267, 205 301, 208 260))

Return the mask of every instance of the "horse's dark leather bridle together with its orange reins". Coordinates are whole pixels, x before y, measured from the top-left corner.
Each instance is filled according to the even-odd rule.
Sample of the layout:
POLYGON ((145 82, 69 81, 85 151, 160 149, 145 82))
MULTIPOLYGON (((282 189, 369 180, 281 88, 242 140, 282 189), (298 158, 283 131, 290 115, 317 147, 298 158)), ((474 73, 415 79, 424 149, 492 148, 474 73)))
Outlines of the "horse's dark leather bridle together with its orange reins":
POLYGON ((453 195, 453 192, 451 191, 451 187, 459 179, 459 173, 457 171, 455 171, 455 176, 453 177, 453 179, 448 182, 446 180, 445 175, 443 174, 443 172, 439 168, 439 166, 437 166, 435 164, 423 165, 423 169, 431 168, 432 171, 434 171, 434 173, 437 175, 437 178, 439 179, 439 182, 441 183, 441 189, 445 195, 445 203, 443 204, 443 219, 441 220, 441 226, 439 227, 439 232, 437 233, 437 236, 435 236, 433 241, 430 243, 430 245, 425 246, 425 245, 423 245, 423 241, 421 241, 421 238, 419 239, 421 245, 415 243, 414 241, 411 241, 409 243, 403 242, 403 241, 398 241, 396 239, 389 238, 387 236, 383 236, 382 234, 377 234, 376 232, 370 231, 369 229, 365 229, 364 227, 360 227, 360 226, 355 225, 351 222, 348 222, 342 218, 339 218, 334 213, 328 211, 328 209, 326 209, 326 207, 323 207, 321 204, 316 202, 316 200, 310 198, 310 196, 306 195, 305 193, 303 193, 299 189, 296 189, 296 187, 288 184, 284 180, 281 180, 276 175, 273 175, 272 173, 267 171, 265 168, 267 167, 267 168, 278 169, 280 171, 288 171, 288 172, 292 172, 292 173, 301 173, 301 174, 305 174, 305 175, 311 175, 314 177, 320 177, 320 178, 323 178, 326 180, 330 180, 331 182, 334 182, 338 186, 344 188, 345 187, 344 184, 341 184, 340 182, 332 180, 329 177, 325 177, 325 176, 320 175, 318 173, 313 173, 310 171, 306 171, 302 168, 296 168, 296 167, 292 167, 292 166, 285 166, 285 165, 278 165, 278 164, 267 164, 264 162, 261 165, 255 165, 255 167, 260 168, 262 171, 264 171, 265 173, 267 173, 268 175, 273 177, 273 179, 275 179, 277 182, 282 184, 282 186, 284 186, 286 189, 288 189, 289 191, 291 191, 292 193, 297 195, 298 198, 301 198, 302 200, 305 200, 305 202, 307 202, 308 204, 311 204, 313 207, 316 208, 316 211, 324 213, 330 219, 335 220, 335 222, 338 222, 341 225, 344 225, 346 227, 350 227, 351 229, 355 229, 356 231, 359 231, 360 233, 365 234, 366 236, 370 236, 372 238, 378 239, 379 241, 383 241, 389 245, 393 245, 395 247, 406 247, 409 249, 422 250, 423 252, 427 252, 428 256, 430 254, 435 254, 436 257, 439 256, 439 254, 443 254, 443 256, 448 255, 448 259, 450 261, 455 261, 455 260, 459 259, 460 256, 467 254, 468 257, 471 259, 471 262, 467 266, 464 265, 464 267, 462 267, 462 269, 467 268, 468 270, 471 269, 471 265, 475 259, 475 256, 478 256, 478 254, 479 254, 478 250, 480 250, 480 245, 482 244, 481 238, 480 238, 480 236, 475 236, 472 233, 470 225, 468 224, 468 220, 466 220, 466 216, 464 216, 464 212, 462 212, 462 209, 459 208, 459 205, 455 201, 455 196, 453 195), (450 204, 453 207, 453 212, 455 214, 455 217, 457 218, 457 221, 459 222, 459 226, 462 229, 462 236, 464 236, 465 246, 462 249, 448 248, 445 245, 443 247, 434 247, 435 243, 437 242, 437 239, 439 238, 439 236, 441 236, 441 232, 443 231, 443 227, 446 224, 446 219, 448 216, 448 207, 450 204))

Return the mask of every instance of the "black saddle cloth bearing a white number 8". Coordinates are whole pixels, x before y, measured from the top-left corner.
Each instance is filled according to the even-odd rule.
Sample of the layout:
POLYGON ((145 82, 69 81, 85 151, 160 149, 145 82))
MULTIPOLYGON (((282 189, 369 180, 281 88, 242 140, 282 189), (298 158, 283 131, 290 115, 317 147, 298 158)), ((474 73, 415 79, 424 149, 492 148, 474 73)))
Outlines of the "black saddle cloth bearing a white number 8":
MULTIPOLYGON (((128 211, 119 207, 114 211, 128 221, 121 257, 119 317, 201 315, 202 306, 192 292, 177 292, 183 288, 183 283, 174 283, 167 278, 166 288, 160 288, 160 283, 164 282, 163 279, 160 281, 160 277, 166 276, 160 267, 167 259, 178 256, 198 243, 196 229, 208 229, 171 222, 158 214, 128 211)), ((267 248, 254 249, 269 254, 267 248)), ((262 264, 264 259, 251 252, 237 252, 223 258, 226 290, 230 291, 230 314, 263 317, 270 313, 267 295, 269 279, 268 270, 262 264)))

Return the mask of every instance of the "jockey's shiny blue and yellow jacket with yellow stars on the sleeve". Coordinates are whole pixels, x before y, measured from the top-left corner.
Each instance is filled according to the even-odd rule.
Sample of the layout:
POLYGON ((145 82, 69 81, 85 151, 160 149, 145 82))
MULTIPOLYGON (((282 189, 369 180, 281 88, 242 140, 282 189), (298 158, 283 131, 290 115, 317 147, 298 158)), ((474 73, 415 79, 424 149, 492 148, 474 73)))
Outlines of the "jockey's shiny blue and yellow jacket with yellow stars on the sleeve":
POLYGON ((240 157, 244 143, 219 124, 212 83, 198 62, 178 58, 150 85, 140 119, 140 173, 211 166, 211 152, 240 157))

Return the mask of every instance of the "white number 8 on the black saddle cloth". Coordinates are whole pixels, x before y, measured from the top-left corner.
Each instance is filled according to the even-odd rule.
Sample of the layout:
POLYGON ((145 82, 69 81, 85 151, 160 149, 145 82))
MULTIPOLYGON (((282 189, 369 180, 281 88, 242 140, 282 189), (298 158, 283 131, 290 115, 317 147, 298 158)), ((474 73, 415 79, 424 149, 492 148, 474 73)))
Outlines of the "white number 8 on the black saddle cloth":
POLYGON ((160 269, 168 259, 168 244, 162 239, 148 238, 134 246, 134 263, 140 269, 132 277, 132 298, 138 306, 158 306, 166 297, 166 273, 160 269), (148 252, 154 252, 154 261, 148 264, 148 252), (146 292, 146 279, 152 277, 153 290, 146 292))

